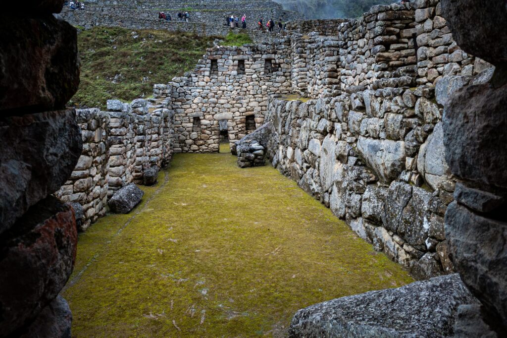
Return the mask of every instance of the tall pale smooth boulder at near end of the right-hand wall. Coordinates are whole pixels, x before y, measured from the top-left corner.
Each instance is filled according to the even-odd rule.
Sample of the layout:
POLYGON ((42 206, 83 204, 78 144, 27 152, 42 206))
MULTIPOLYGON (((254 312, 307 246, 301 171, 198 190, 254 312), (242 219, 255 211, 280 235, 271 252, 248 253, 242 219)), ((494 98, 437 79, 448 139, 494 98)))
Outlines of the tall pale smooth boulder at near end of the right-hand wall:
POLYGON ((417 171, 433 189, 450 180, 451 171, 445 161, 444 130, 442 122, 435 125, 433 132, 419 149, 417 156, 417 171))

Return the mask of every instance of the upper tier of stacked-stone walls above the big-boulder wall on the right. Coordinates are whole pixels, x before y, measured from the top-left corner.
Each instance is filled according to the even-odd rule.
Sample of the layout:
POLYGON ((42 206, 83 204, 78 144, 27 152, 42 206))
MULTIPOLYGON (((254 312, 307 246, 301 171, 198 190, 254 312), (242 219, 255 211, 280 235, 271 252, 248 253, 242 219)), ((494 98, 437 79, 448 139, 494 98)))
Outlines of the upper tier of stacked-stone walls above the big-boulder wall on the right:
POLYGON ((295 21, 292 81, 312 98, 351 87, 434 85, 442 76, 480 73, 490 65, 453 41, 440 2, 374 6, 358 20, 295 21), (310 32, 314 30, 314 32, 310 32))

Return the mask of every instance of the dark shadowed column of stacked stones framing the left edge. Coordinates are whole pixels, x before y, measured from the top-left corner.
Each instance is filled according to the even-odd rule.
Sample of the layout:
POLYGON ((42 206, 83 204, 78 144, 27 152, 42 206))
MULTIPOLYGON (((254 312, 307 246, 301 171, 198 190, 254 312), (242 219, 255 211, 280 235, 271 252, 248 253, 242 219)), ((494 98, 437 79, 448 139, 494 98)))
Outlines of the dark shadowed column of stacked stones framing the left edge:
POLYGON ((58 294, 77 249, 73 208, 51 194, 78 162, 77 32, 54 16, 63 1, 2 3, 0 11, 0 336, 70 336, 58 294))

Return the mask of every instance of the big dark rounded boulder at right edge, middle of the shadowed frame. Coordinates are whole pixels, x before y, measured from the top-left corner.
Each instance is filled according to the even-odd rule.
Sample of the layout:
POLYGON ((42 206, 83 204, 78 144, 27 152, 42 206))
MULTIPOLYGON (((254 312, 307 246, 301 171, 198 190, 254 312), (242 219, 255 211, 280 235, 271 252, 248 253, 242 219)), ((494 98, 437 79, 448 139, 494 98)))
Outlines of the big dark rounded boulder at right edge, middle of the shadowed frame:
POLYGON ((489 84, 464 87, 448 101, 443 118, 444 146, 454 175, 507 188, 505 107, 507 85, 496 89, 489 84))

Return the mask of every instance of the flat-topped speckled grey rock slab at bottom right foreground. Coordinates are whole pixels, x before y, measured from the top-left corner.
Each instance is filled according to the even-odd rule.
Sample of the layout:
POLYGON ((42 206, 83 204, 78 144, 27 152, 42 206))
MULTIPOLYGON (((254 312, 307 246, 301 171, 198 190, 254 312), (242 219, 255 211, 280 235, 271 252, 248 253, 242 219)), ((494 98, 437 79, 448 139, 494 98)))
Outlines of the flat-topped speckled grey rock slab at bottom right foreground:
POLYGON ((453 334, 457 308, 477 303, 459 275, 342 297, 299 310, 290 337, 441 337, 453 334))

